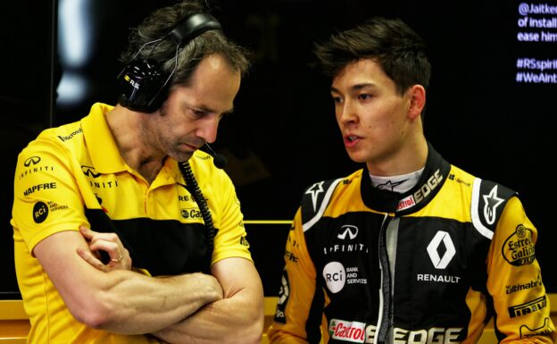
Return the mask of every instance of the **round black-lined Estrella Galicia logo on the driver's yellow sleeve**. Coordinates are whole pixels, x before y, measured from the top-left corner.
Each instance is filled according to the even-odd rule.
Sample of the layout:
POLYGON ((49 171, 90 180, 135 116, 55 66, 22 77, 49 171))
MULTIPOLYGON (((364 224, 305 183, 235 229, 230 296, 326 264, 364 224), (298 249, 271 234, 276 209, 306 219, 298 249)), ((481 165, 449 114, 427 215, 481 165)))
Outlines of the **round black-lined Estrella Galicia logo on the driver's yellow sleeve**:
POLYGON ((514 233, 503 244, 503 257, 514 266, 532 264, 536 259, 534 246, 532 230, 526 228, 523 224, 519 224, 514 233))

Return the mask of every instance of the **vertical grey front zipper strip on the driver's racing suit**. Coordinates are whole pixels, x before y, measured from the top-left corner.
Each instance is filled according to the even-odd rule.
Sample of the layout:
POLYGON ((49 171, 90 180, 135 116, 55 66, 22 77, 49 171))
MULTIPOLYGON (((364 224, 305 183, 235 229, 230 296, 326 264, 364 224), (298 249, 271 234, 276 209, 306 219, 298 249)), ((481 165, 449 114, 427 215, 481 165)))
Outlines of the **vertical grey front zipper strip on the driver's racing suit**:
POLYGON ((378 242, 378 261, 379 269, 381 271, 381 289, 379 289, 379 317, 378 317, 378 332, 376 335, 375 344, 385 344, 387 342, 388 331, 392 322, 392 302, 391 302, 391 274, 389 272, 389 262, 387 255, 387 227, 389 224, 389 214, 385 214, 381 230, 379 231, 378 242))

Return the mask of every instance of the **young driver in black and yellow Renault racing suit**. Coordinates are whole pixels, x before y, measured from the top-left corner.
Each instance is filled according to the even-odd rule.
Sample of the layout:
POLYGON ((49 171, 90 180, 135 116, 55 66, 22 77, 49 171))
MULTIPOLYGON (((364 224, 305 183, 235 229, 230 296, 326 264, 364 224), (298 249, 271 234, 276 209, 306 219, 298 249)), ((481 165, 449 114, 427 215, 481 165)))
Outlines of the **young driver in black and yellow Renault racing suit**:
POLYGON ((422 39, 374 18, 316 54, 346 152, 365 167, 305 190, 270 342, 473 343, 492 315, 502 342, 553 342, 536 228, 517 194, 424 137, 422 39))

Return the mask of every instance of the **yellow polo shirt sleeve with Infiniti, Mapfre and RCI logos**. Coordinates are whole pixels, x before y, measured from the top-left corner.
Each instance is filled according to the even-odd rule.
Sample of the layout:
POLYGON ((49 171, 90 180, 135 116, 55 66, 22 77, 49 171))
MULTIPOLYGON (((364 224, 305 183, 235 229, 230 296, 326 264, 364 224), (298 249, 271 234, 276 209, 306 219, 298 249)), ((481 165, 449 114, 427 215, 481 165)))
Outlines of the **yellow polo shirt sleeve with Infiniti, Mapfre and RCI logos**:
POLYGON ((54 233, 87 224, 74 170, 65 149, 44 135, 18 156, 11 223, 29 252, 54 233))

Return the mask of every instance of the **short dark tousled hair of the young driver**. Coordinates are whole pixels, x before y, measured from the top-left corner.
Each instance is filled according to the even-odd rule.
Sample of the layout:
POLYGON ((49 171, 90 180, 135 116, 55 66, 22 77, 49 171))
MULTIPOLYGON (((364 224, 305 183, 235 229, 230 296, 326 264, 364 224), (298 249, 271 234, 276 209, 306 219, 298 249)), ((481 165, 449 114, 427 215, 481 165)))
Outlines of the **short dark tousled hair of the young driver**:
POLYGON ((423 39, 400 19, 373 17, 317 43, 314 53, 323 72, 331 77, 347 64, 372 59, 395 81, 402 95, 416 84, 428 88, 431 64, 425 50, 423 39))

